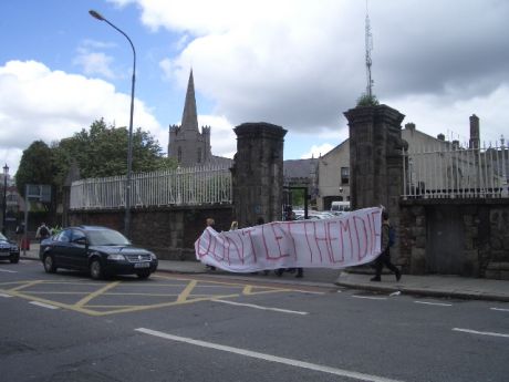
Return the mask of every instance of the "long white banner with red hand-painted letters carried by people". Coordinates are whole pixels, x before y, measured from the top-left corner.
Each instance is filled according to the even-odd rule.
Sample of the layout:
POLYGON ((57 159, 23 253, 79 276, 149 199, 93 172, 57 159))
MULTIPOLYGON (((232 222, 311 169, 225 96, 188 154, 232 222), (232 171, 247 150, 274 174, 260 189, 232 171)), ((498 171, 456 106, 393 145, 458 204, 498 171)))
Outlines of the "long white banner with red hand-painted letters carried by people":
POLYGON ((195 242, 201 262, 232 272, 278 268, 345 268, 381 252, 382 208, 364 208, 323 220, 273 221, 217 233, 195 242))

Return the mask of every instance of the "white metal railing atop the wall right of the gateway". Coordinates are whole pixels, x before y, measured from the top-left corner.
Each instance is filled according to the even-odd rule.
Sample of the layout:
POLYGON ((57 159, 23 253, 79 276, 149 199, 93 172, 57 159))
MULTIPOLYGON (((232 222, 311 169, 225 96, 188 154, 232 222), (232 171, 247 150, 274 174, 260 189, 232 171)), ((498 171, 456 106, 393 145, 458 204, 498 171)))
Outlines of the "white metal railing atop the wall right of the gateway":
POLYGON ((404 152, 403 198, 509 197, 508 147, 445 142, 404 152))

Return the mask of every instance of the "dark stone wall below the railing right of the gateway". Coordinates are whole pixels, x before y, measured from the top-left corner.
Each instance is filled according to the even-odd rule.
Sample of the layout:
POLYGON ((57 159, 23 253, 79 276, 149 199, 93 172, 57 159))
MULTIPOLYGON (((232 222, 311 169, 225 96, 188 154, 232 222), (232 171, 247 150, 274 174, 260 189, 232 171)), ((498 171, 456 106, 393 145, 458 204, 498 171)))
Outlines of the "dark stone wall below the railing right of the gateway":
POLYGON ((509 200, 402 200, 399 257, 412 275, 509 280, 509 200))

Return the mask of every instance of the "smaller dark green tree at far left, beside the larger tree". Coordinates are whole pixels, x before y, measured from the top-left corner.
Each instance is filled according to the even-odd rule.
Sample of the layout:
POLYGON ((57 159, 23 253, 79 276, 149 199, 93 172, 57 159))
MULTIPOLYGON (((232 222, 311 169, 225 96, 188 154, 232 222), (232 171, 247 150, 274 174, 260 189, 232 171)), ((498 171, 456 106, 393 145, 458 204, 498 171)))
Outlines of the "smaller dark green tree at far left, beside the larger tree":
POLYGON ((15 185, 22 196, 27 184, 53 184, 52 151, 42 141, 33 142, 21 156, 15 185))

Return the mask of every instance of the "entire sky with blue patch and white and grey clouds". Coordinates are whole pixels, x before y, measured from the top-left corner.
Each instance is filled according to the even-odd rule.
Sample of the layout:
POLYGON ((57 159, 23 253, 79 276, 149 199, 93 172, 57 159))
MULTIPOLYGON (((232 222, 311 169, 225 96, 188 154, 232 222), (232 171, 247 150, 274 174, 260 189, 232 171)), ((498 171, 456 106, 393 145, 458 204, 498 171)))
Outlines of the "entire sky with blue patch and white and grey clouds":
MULTIPOLYGON (((325 154, 347 137, 343 112, 365 91, 364 0, 2 0, 0 164, 97 118, 135 127, 164 151, 179 124, 190 68, 212 153, 232 156, 232 127, 288 130, 284 158, 325 154)), ((509 1, 370 0, 374 93, 417 128, 467 142, 509 138, 509 1)))

